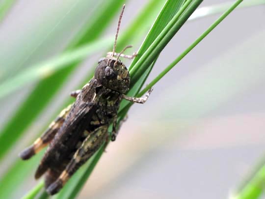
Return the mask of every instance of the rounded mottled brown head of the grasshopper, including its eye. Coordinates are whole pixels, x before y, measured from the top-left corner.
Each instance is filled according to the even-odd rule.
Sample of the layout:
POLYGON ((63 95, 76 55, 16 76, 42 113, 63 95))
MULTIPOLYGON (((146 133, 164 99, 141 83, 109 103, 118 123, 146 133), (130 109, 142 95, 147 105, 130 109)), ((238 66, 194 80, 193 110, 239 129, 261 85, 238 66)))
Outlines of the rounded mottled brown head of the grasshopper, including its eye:
POLYGON ((114 57, 99 60, 95 78, 100 84, 120 93, 126 93, 129 90, 129 71, 120 60, 116 61, 114 57))

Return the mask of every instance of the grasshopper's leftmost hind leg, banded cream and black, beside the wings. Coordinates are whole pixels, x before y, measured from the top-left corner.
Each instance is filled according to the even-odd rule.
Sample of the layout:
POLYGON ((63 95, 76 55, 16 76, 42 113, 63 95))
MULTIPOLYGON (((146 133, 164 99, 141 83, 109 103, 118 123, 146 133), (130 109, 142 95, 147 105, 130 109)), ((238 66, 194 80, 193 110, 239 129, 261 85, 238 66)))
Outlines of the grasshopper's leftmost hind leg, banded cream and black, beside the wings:
POLYGON ((55 134, 62 126, 66 116, 68 115, 72 105, 61 111, 61 113, 56 117, 56 119, 50 124, 49 128, 44 132, 44 134, 38 138, 31 146, 24 149, 19 156, 23 160, 31 158, 33 155, 38 153, 42 148, 47 146, 54 138, 55 134))

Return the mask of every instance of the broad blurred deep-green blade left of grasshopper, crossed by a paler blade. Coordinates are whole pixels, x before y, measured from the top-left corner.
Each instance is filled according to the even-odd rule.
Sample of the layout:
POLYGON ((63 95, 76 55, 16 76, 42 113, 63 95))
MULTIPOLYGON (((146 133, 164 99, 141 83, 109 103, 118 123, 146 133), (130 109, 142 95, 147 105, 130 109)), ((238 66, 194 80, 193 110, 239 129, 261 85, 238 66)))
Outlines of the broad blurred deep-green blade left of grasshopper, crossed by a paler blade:
MULTIPOLYGON (((106 5, 104 6, 105 10, 98 12, 98 16, 94 17, 94 26, 90 24, 86 26, 86 31, 84 32, 89 32, 89 37, 87 38, 87 35, 82 34, 82 36, 79 36, 78 40, 72 42, 67 49, 69 50, 80 46, 85 42, 84 38, 87 38, 87 42, 90 42, 92 41, 92 38, 99 37, 101 31, 103 31, 103 28, 98 28, 98 26, 106 27, 104 24, 108 24, 111 21, 111 18, 115 16, 115 13, 120 10, 119 5, 123 2, 124 0, 107 1, 106 5), (113 4, 115 4, 114 7, 113 4), (111 10, 111 12, 109 12, 109 10, 111 10), (95 32, 95 29, 98 31, 95 32), (91 32, 93 32, 93 34, 91 32)), ((14 113, 13 117, 6 123, 0 132, 0 145, 2 146, 0 150, 0 159, 22 136, 27 127, 35 120, 35 118, 45 109, 53 96, 61 88, 63 83, 67 80, 67 77, 72 73, 77 65, 78 62, 61 69, 55 72, 52 76, 42 80, 35 86, 27 99, 22 103, 16 113, 14 113), (27 117, 25 117, 25 115, 27 115, 27 117)))

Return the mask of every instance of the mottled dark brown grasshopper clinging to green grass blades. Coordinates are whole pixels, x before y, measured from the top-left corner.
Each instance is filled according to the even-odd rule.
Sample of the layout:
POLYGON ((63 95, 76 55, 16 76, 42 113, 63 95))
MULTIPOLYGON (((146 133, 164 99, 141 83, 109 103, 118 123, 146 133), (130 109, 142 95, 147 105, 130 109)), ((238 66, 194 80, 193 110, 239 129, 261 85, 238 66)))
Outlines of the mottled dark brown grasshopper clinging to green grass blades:
POLYGON ((144 103, 152 89, 142 98, 128 97, 130 74, 119 57, 133 58, 115 53, 118 32, 125 5, 120 14, 113 51, 101 58, 90 82, 71 93, 76 101, 64 109, 47 131, 31 146, 20 153, 23 160, 31 158, 49 144, 35 173, 38 179, 45 174, 45 188, 56 194, 67 180, 109 139, 107 131, 113 123, 111 140, 117 135, 117 112, 122 99, 144 103), (117 56, 114 57, 114 56, 117 56))

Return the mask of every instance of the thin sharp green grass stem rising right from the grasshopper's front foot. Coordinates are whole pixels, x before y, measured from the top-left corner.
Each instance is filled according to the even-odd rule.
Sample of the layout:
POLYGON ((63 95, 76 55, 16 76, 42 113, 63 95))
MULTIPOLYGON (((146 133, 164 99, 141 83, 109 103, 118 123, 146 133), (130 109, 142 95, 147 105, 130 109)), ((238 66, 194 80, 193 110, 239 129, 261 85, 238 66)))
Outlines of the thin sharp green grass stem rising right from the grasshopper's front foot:
POLYGON ((218 26, 243 0, 237 0, 226 12, 224 12, 205 32, 203 32, 179 57, 166 67, 139 95, 145 93, 165 76, 183 57, 185 57, 198 43, 200 43, 216 26, 218 26))

